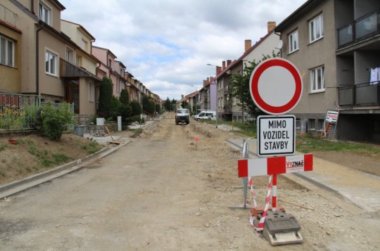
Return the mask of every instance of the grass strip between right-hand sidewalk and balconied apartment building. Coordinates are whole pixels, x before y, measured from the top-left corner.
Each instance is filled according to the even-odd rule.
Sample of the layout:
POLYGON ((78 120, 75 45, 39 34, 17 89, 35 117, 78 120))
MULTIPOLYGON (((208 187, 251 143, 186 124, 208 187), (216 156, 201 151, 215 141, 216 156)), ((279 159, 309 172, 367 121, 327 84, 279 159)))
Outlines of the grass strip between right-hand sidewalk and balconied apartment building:
POLYGON ((380 153, 380 148, 360 143, 348 143, 344 141, 329 141, 309 135, 297 136, 297 150, 302 153, 312 153, 312 151, 324 152, 355 152, 355 153, 380 153))

